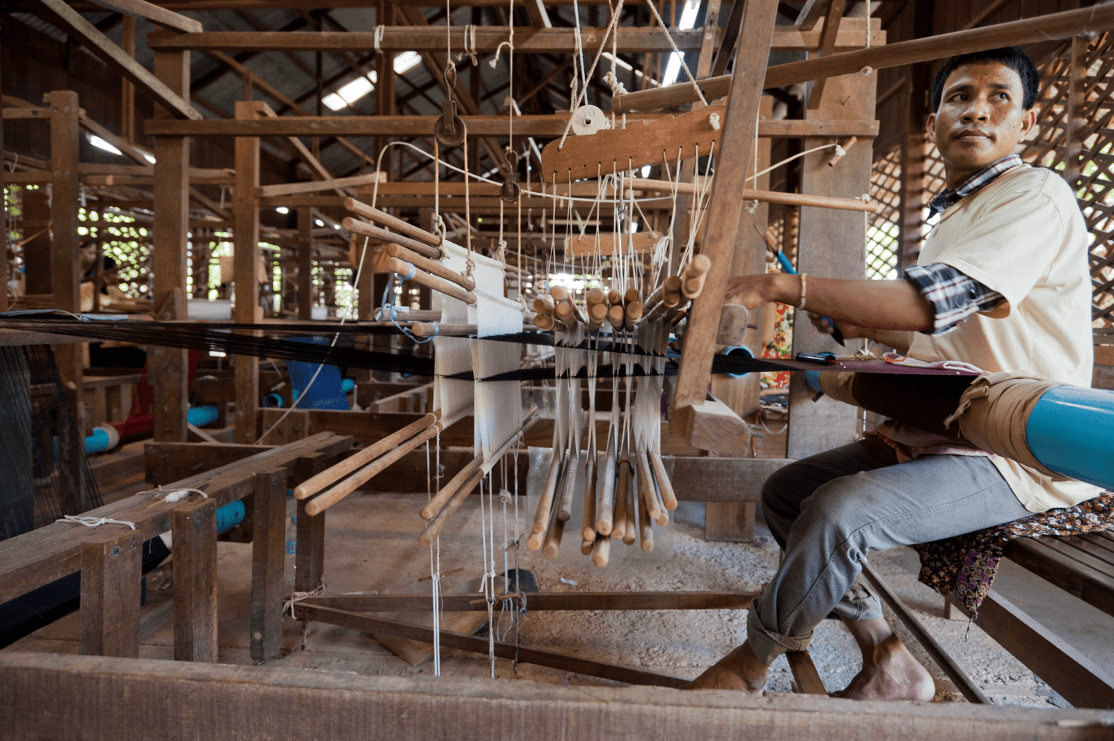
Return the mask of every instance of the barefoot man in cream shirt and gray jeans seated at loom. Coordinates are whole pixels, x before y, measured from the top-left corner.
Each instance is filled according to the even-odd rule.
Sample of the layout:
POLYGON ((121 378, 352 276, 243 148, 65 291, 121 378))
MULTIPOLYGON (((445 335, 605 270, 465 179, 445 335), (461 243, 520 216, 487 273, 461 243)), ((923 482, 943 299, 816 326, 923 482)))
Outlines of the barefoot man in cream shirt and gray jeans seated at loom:
MULTIPOLYGON (((727 298, 754 308, 781 302, 813 325, 837 320, 922 360, 956 359, 1091 385, 1088 237, 1071 188, 1013 155, 1036 124, 1039 76, 1018 48, 952 58, 937 76, 927 128, 948 189, 941 219, 903 280, 837 280, 785 274, 733 278, 727 298)), ((878 435, 782 468, 763 488, 782 564, 754 601, 747 640, 693 688, 761 694, 773 660, 804 649, 839 615, 862 651, 841 693, 929 700, 931 676, 856 583, 872 551, 937 541, 1096 496, 1017 463, 886 423, 878 435)))

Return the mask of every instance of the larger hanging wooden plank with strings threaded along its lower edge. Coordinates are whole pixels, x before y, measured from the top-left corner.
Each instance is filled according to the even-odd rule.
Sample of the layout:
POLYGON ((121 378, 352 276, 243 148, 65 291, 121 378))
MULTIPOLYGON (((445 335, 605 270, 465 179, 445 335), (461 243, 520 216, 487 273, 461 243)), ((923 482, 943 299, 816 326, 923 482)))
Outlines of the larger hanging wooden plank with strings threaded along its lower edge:
POLYGON ((557 139, 541 150, 541 177, 546 182, 570 182, 663 161, 675 169, 681 159, 713 151, 723 139, 725 116, 725 106, 707 106, 641 127, 569 136, 564 145, 557 139))

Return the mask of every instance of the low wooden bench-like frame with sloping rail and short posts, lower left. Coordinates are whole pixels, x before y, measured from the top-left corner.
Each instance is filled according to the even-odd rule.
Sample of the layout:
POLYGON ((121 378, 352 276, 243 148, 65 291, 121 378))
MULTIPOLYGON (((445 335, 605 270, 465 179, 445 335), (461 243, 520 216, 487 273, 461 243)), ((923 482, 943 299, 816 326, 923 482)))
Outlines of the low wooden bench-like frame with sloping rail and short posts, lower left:
MULTIPOLYGON (((152 494, 136 494, 84 513, 130 522, 135 530, 120 524, 53 523, 0 542, 0 603, 80 572, 79 652, 137 656, 141 545, 170 531, 175 658, 216 661, 216 510, 251 496, 251 654, 256 660, 271 659, 282 644, 286 488, 316 474, 351 446, 351 437, 320 433, 287 445, 256 448, 258 453, 166 487, 201 490, 206 498, 192 495, 166 503, 152 494)), ((300 530, 303 521, 310 527, 311 520, 317 521, 312 526, 323 533, 321 516, 300 517, 300 530)), ((299 564, 304 560, 309 574, 310 561, 321 560, 321 549, 301 551, 299 564)))

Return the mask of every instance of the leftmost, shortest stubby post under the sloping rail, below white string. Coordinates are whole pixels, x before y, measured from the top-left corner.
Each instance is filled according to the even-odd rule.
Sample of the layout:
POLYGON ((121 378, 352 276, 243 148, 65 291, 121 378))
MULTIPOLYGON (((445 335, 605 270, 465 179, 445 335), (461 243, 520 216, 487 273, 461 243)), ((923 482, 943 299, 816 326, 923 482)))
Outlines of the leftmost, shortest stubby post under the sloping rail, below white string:
POLYGON ((116 531, 81 544, 78 653, 138 658, 143 540, 116 531))

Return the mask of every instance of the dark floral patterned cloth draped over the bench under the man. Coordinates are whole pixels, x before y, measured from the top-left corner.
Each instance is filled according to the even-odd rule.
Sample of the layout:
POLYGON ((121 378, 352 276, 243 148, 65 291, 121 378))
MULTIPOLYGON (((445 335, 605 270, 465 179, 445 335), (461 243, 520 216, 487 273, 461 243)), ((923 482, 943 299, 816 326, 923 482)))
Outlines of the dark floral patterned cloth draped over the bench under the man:
POLYGON ((956 597, 978 619, 978 609, 998 573, 1009 541, 1042 535, 1081 535, 1114 525, 1114 494, 1104 492, 1074 507, 1048 510, 1024 520, 912 546, 920 555, 920 581, 956 597))

